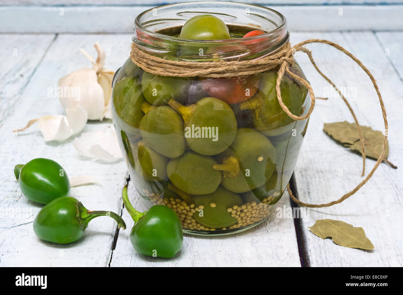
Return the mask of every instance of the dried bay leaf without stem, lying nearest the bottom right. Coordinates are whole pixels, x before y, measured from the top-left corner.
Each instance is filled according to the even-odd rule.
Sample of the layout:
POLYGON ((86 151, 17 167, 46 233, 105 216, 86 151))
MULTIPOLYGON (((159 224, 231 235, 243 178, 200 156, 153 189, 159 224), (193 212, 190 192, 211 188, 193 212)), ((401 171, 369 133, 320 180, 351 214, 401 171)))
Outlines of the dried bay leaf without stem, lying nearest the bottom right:
POLYGON ((334 243, 343 247, 374 249, 374 245, 366 237, 362 227, 353 227, 353 225, 339 220, 321 219, 308 228, 321 239, 331 237, 334 243))

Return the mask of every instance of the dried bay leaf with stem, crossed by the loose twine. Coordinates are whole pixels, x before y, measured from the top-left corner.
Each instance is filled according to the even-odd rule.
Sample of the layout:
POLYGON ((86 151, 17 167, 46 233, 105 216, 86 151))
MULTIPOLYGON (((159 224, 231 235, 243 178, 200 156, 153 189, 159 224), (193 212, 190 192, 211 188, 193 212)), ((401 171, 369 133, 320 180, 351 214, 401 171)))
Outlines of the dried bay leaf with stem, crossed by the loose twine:
MULTIPOLYGON (((361 134, 364 138, 364 150, 367 157, 378 159, 380 153, 382 152, 382 144, 384 140, 384 135, 382 132, 373 130, 367 126, 361 126, 361 134)), ((330 135, 333 139, 341 142, 344 146, 348 147, 353 151, 358 151, 362 154, 361 141, 359 139, 358 128, 355 123, 335 122, 335 123, 325 123, 323 126, 323 131, 330 135)), ((386 144, 386 151, 384 156, 384 161, 391 165, 393 168, 397 168, 395 165, 386 160, 389 153, 388 143, 386 144)))

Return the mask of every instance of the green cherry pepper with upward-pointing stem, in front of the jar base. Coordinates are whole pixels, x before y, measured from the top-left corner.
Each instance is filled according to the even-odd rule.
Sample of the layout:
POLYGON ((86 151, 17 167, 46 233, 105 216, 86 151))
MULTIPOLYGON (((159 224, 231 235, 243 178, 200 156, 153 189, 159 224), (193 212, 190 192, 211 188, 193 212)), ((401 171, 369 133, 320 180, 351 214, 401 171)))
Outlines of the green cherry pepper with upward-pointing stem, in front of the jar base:
POLYGON ((123 188, 123 204, 133 218, 130 241, 134 250, 153 257, 171 258, 181 249, 183 233, 178 215, 164 205, 139 212, 130 204, 127 185, 123 188))

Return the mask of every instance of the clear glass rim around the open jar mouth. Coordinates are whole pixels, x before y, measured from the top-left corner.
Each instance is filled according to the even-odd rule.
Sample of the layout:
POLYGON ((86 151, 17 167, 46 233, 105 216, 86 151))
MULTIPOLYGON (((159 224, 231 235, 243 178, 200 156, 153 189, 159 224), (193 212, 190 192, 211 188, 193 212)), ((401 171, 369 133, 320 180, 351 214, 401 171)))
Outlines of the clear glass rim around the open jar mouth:
MULTIPOLYGON (((179 19, 178 19, 179 20, 179 19)), ((272 35, 273 33, 276 33, 276 31, 281 31, 284 30, 287 27, 287 20, 285 18, 285 16, 283 14, 281 14, 280 12, 278 12, 277 10, 268 8, 266 6, 262 6, 262 5, 257 5, 257 4, 249 4, 249 3, 242 3, 242 2, 232 2, 232 1, 192 1, 192 2, 178 2, 178 3, 171 3, 171 4, 165 4, 165 5, 161 5, 161 6, 156 6, 154 8, 150 8, 148 10, 145 10, 143 12, 141 12, 140 14, 137 15, 136 19, 135 19, 135 29, 141 29, 141 31, 149 34, 150 36, 153 37, 157 37, 157 38, 162 38, 162 39, 166 39, 166 40, 170 40, 170 41, 180 41, 183 43, 237 43, 240 41, 249 41, 249 40, 254 40, 254 39, 260 39, 260 38, 266 38, 269 37, 270 35, 272 35), (145 14, 152 12, 154 9, 156 8, 162 8, 162 7, 168 7, 168 6, 176 6, 176 5, 180 5, 180 4, 241 4, 244 6, 248 6, 248 7, 258 7, 258 8, 262 8, 263 10, 267 10, 270 11, 274 14, 276 14, 280 20, 281 23, 280 25, 276 25, 276 27, 270 31, 265 32, 264 34, 261 35, 256 35, 256 36, 251 36, 251 37, 246 37, 246 38, 232 38, 232 39, 218 39, 218 40, 197 40, 197 39, 185 39, 185 38, 179 38, 179 37, 174 37, 174 36, 169 36, 169 35, 164 35, 164 34, 160 34, 154 31, 150 31, 148 29, 146 29, 143 24, 140 23, 140 19, 141 17, 143 17, 145 14)), ((288 34, 287 35, 287 39, 288 39, 288 34)))

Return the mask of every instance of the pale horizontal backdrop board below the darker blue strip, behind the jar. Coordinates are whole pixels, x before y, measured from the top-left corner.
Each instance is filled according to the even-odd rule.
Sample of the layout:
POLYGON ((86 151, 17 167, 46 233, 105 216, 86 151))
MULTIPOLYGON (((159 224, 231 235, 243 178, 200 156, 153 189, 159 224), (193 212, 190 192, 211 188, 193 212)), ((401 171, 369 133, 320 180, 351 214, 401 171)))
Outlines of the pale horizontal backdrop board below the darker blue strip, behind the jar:
MULTIPOLYGON (((129 33, 137 14, 152 7, 0 6, 0 32, 129 33)), ((398 4, 270 5, 270 8, 281 12, 287 18, 289 30, 294 31, 403 29, 403 5, 398 4)))

